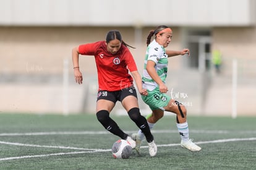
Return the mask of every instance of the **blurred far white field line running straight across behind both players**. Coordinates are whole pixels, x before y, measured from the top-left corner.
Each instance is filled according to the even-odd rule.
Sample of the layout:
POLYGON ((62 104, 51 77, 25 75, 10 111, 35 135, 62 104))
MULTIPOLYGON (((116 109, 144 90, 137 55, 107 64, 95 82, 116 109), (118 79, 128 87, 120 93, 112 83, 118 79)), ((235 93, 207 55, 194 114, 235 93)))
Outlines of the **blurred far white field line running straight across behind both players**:
MULTIPOLYGON (((126 131, 127 134, 132 134, 137 131, 126 131)), ((152 133, 161 134, 176 134, 177 130, 151 130, 152 133)), ((192 134, 256 134, 256 130, 189 130, 192 134)), ((105 131, 77 131, 77 132, 27 132, 27 133, 2 133, 0 136, 36 136, 36 135, 98 135, 109 134, 105 131)))

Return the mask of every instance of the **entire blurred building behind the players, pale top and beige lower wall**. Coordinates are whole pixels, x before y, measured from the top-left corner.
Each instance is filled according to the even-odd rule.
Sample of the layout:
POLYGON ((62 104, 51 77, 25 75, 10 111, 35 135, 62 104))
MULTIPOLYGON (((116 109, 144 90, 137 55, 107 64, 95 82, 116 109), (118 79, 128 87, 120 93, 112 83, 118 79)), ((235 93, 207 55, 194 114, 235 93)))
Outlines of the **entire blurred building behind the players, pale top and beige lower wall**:
MULTIPOLYGON (((190 57, 169 59, 169 95, 189 114, 256 116, 255 11, 254 0, 1 0, 0 112, 94 113, 94 57, 80 57, 84 80, 78 85, 72 48, 119 30, 136 47, 130 51, 142 73, 148 32, 168 25, 168 49, 190 49, 190 57)), ((148 114, 140 96, 139 102, 148 114)), ((113 112, 124 110, 118 103, 113 112)))

